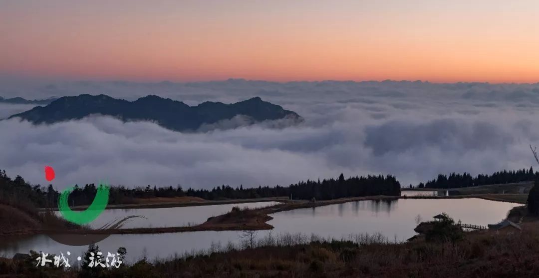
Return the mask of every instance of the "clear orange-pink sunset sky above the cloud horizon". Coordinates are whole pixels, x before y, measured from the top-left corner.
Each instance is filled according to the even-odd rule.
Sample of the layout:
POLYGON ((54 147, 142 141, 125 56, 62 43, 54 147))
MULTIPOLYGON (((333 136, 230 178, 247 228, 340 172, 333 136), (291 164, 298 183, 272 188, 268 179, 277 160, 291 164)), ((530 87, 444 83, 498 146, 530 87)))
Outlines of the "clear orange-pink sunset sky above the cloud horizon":
POLYGON ((531 0, 8 0, 0 74, 537 82, 537 12, 531 0))

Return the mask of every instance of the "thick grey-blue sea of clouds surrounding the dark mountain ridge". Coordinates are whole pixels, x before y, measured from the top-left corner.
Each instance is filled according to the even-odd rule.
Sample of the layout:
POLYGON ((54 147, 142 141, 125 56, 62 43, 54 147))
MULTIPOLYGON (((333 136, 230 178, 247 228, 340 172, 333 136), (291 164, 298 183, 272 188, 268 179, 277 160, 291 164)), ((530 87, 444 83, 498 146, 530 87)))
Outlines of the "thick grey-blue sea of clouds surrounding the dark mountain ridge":
MULTIPOLYGON (((248 125, 237 117, 179 133, 103 116, 38 126, 3 120, 0 169, 46 184, 43 167, 51 165, 58 189, 102 179, 126 186, 288 185, 341 172, 389 173, 407 185, 438 173, 529 168, 535 166, 529 144, 539 145, 539 84, 226 80, 0 86, 0 95, 27 99, 83 93, 127 100, 155 94, 188 105, 260 96, 305 121, 248 125)), ((31 107, 2 104, 0 119, 31 107)))

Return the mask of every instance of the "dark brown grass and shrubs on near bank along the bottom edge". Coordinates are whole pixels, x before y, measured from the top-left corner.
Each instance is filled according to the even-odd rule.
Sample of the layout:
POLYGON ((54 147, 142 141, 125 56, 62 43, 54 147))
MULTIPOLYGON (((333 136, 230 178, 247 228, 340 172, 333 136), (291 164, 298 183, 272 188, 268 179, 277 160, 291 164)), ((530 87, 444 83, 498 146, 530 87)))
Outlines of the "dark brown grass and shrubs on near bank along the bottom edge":
MULTIPOLYGON (((454 243, 440 238, 399 244, 381 235, 323 240, 267 233, 247 248, 229 244, 168 260, 142 259, 103 269, 99 277, 535 277, 539 273, 537 223, 523 224, 522 233, 516 234, 465 234, 454 243)), ((250 235, 246 238, 251 241, 250 235)), ((3 260, 0 275, 84 277, 81 268, 59 273, 55 267, 32 268, 31 263, 3 260)))

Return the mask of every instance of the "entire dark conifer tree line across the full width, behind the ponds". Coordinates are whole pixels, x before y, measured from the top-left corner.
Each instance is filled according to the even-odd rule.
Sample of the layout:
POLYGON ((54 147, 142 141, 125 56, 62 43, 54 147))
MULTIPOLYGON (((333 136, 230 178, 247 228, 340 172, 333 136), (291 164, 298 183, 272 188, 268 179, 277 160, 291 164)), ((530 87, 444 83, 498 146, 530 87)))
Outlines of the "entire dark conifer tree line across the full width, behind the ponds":
MULTIPOLYGON (((539 172, 521 169, 516 171, 498 171, 492 175, 480 174, 472 177, 469 173, 451 173, 449 176, 438 175, 437 178, 426 183, 419 183, 417 187, 428 188, 457 188, 478 186, 487 184, 503 184, 533 181, 539 177, 539 172)), ((412 185, 410 185, 412 186, 412 185)), ((95 184, 84 186, 75 185, 75 190, 68 197, 70 205, 88 205, 92 202, 97 192, 95 184)), ((293 199, 316 199, 327 200, 345 197, 360 197, 371 195, 398 196, 400 194, 400 183, 395 176, 361 176, 344 178, 341 175, 337 178, 323 180, 300 181, 289 186, 258 186, 247 187, 243 185, 232 187, 221 185, 213 189, 189 189, 185 190, 181 185, 176 187, 157 187, 147 185, 146 187, 127 188, 125 186, 111 186, 109 194, 109 204, 129 204, 135 203, 136 198, 154 197, 198 197, 206 200, 222 199, 247 199, 247 198, 271 198, 288 196, 293 199)), ((40 186, 30 185, 24 178, 17 176, 11 179, 5 170, 0 171, 0 198, 2 203, 33 203, 38 207, 56 206, 59 192, 54 190, 52 185, 40 186)))

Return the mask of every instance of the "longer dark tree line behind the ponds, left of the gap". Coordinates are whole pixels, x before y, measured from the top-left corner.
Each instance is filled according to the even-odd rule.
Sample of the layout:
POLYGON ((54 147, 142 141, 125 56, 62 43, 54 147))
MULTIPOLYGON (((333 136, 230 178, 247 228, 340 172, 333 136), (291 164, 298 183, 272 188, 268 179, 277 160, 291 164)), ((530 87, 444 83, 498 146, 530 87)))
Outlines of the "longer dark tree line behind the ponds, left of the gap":
MULTIPOLYGON (((68 196, 70 205, 91 204, 97 186, 86 184, 84 186, 75 185, 73 192, 68 196)), ((24 178, 17 176, 15 179, 8 177, 4 171, 0 171, 0 193, 3 199, 17 200, 22 197, 31 201, 38 207, 56 206, 59 192, 54 190, 52 185, 40 186, 30 185, 24 178)), ((176 187, 157 187, 147 185, 146 187, 127 188, 125 186, 111 186, 109 190, 109 204, 128 204, 136 198, 154 197, 198 197, 206 200, 223 199, 248 199, 248 198, 271 198, 288 196, 293 199, 317 199, 327 200, 343 197, 359 197, 369 195, 392 195, 400 194, 400 184, 394 176, 366 176, 350 177, 348 179, 341 175, 337 178, 319 179, 316 182, 307 180, 300 181, 289 186, 258 186, 244 188, 222 185, 213 189, 189 189, 184 190, 181 185, 176 187)))

